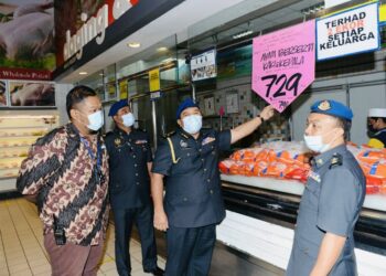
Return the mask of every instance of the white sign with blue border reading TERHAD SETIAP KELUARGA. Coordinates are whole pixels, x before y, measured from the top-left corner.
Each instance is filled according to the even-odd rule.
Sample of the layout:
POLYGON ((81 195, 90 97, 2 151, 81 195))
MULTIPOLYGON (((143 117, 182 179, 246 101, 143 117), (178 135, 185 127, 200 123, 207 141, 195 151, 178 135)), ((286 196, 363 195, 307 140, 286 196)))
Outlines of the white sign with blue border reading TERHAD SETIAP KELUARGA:
POLYGON ((378 3, 317 20, 318 61, 379 49, 378 3))

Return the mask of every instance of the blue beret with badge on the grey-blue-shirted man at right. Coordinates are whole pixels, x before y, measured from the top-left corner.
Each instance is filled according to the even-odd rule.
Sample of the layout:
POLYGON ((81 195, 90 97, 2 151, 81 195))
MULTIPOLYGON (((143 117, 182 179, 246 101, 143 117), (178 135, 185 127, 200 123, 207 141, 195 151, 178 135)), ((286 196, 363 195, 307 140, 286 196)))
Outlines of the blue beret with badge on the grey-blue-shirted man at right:
POLYGON ((311 106, 311 113, 325 114, 346 120, 352 120, 354 116, 350 107, 333 99, 318 100, 311 106))

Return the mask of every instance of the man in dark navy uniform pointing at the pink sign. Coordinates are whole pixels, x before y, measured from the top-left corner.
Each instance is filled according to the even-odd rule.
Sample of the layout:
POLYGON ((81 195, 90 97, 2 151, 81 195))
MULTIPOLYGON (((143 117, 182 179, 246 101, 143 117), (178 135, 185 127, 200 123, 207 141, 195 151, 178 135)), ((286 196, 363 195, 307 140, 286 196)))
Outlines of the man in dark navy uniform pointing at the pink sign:
POLYGON ((208 274, 216 224, 225 217, 218 153, 250 135, 272 115, 272 107, 267 106, 256 118, 217 132, 201 129, 201 110, 192 99, 181 103, 176 112, 180 128, 159 146, 152 168, 154 226, 168 230, 165 275, 208 274))

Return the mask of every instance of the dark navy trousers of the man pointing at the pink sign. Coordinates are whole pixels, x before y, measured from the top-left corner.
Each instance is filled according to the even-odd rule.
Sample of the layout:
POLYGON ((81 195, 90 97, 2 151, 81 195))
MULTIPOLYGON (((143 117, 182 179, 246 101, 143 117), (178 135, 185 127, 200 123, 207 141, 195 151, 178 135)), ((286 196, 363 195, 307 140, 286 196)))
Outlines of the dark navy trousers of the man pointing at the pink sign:
POLYGON ((194 229, 169 226, 167 276, 208 275, 216 242, 216 225, 194 229))

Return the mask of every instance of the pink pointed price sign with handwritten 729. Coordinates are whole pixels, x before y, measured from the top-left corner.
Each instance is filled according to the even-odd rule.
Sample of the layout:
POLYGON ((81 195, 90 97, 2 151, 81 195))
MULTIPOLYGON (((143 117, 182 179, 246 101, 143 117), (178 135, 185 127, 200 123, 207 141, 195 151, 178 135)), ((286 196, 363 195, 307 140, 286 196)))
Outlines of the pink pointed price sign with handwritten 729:
POLYGON ((283 112, 315 78, 315 21, 254 39, 253 89, 283 112))

